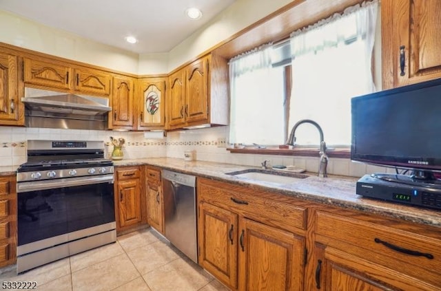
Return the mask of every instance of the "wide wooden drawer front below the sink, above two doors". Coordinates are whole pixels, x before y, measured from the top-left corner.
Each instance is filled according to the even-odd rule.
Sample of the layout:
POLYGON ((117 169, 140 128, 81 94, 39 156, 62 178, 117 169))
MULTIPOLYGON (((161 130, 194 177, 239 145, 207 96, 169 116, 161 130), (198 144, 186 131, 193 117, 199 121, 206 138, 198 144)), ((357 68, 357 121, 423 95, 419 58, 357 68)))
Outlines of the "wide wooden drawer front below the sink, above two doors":
POLYGON ((234 184, 198 179, 198 200, 232 210, 269 226, 306 229, 306 208, 268 199, 262 192, 234 184))

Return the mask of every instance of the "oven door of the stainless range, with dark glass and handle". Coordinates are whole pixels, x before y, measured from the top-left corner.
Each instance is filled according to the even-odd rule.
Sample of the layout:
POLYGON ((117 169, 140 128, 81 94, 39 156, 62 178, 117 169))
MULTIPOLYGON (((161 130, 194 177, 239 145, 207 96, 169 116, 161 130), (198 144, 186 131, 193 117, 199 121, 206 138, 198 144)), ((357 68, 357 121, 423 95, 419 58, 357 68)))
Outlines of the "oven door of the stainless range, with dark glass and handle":
POLYGON ((17 184, 18 246, 115 222, 113 186, 113 175, 17 184))

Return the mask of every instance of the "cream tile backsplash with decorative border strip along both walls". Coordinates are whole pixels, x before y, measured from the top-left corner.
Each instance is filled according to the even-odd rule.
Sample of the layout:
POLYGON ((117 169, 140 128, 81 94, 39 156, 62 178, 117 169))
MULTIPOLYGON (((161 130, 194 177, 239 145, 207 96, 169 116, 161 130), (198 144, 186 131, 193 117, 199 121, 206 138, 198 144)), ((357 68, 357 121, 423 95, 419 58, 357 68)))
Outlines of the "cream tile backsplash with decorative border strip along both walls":
MULTIPOLYGON (((271 164, 294 164, 309 172, 318 171, 318 157, 294 157, 283 155, 252 155, 230 153, 226 150, 228 127, 212 127, 187 131, 172 131, 163 139, 145 139, 143 132, 97 131, 79 129, 39 129, 26 127, 0 127, 0 166, 19 165, 26 161, 26 140, 103 140, 105 156, 110 157, 113 146, 110 136, 124 138, 125 159, 184 158, 185 151, 194 153, 194 160, 226 162, 247 166, 260 166, 263 160, 271 164)), ((361 177, 366 173, 387 172, 393 169, 371 166, 349 159, 329 158, 328 173, 361 177)))

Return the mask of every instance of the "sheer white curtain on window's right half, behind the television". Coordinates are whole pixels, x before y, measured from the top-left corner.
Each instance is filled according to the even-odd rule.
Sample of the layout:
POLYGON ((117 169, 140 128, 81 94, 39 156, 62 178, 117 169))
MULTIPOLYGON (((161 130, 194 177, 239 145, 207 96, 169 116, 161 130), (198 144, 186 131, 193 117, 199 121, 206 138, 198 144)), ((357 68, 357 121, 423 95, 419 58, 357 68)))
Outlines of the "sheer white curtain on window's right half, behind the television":
MULTIPOLYGON (((312 119, 327 144, 351 143, 351 97, 375 91, 371 56, 378 1, 362 3, 291 34, 289 127, 312 119)), ((303 127, 303 126, 301 126, 303 127)), ((318 133, 296 131, 298 144, 318 144, 318 133)))

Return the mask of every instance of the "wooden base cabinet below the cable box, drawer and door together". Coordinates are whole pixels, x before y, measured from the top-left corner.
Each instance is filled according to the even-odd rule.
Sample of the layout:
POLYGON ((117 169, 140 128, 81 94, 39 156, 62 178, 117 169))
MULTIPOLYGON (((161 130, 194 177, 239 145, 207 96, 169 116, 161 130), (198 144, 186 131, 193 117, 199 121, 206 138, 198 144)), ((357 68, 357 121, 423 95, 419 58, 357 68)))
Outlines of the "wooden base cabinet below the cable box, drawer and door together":
POLYGON ((440 290, 439 230, 332 208, 315 219, 307 290, 440 290))

